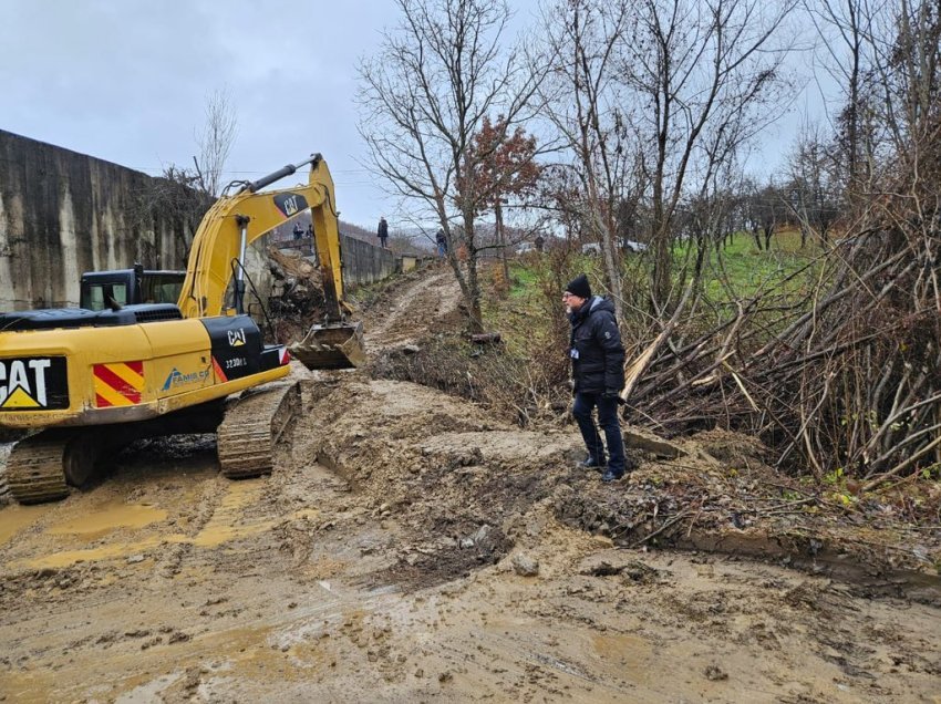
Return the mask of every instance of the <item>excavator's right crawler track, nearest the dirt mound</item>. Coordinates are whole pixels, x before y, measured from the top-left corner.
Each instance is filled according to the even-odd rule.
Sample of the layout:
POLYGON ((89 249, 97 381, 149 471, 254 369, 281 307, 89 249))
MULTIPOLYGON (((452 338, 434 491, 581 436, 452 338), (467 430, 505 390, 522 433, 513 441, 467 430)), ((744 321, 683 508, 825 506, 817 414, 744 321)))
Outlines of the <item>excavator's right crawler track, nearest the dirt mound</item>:
POLYGON ((278 441, 294 421, 300 405, 297 383, 269 384, 232 402, 217 431, 223 474, 242 479, 270 473, 278 441))

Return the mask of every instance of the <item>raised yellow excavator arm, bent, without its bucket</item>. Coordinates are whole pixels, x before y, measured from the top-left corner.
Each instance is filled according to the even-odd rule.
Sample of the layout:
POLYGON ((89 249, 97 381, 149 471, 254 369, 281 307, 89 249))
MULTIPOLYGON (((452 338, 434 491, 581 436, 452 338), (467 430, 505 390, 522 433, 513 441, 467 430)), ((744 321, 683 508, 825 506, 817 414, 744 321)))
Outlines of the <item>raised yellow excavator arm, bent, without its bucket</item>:
POLYGON ((245 291, 246 248, 285 220, 310 210, 328 320, 339 321, 345 312, 340 261, 340 231, 337 220, 333 179, 320 154, 300 164, 288 165, 257 182, 245 184, 234 196, 223 196, 203 218, 193 238, 186 279, 179 297, 184 318, 224 314, 226 292, 235 279, 236 312, 241 313, 245 291), (306 186, 259 193, 266 186, 310 164, 306 186))

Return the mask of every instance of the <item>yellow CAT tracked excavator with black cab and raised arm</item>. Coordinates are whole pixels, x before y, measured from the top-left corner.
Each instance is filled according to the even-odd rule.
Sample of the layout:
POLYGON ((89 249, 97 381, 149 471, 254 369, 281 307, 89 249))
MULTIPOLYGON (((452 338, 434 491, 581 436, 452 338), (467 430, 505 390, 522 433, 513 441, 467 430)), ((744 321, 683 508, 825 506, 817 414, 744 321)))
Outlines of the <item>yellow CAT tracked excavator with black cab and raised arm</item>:
POLYGON ((158 435, 215 432, 226 476, 270 472, 300 402, 297 384, 279 382, 291 354, 309 369, 356 366, 365 356, 362 324, 347 321, 333 180, 319 154, 229 186, 194 236, 176 304, 107 303, 0 314, 0 426, 41 431, 7 462, 22 504, 64 498, 100 458, 158 435), (307 185, 261 191, 308 164, 307 185), (304 210, 325 315, 289 352, 266 344, 246 314, 242 262, 252 241, 304 210))

